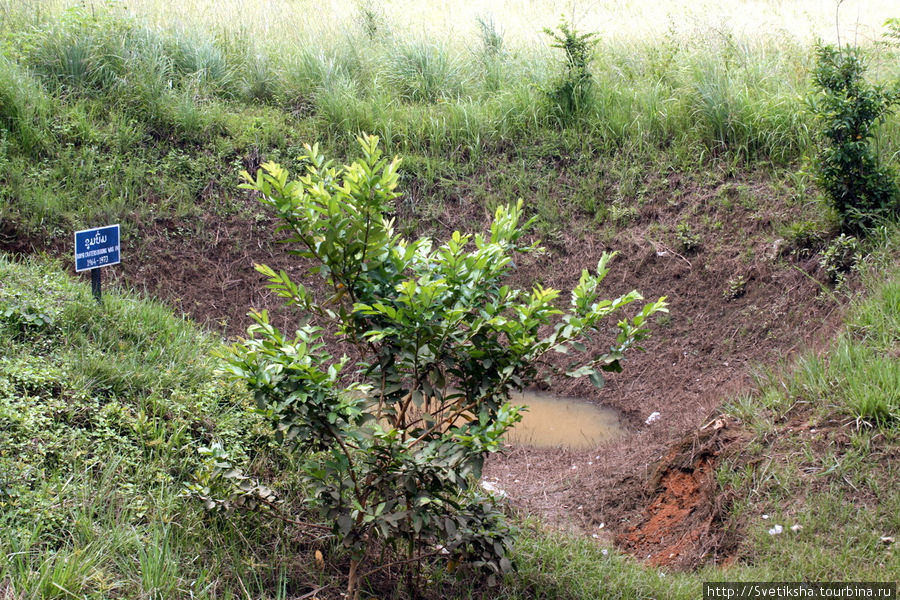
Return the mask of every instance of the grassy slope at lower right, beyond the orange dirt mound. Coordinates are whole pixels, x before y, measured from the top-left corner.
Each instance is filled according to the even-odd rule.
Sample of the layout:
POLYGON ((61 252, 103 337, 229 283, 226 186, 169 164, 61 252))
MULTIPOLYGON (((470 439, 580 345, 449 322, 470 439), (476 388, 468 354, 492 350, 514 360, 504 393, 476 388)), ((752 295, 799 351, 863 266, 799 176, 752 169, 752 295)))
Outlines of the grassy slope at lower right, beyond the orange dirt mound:
POLYGON ((748 523, 747 573, 875 581, 900 570, 900 553, 882 540, 900 527, 898 465, 887 458, 900 449, 898 244, 894 231, 869 257, 871 295, 824 355, 803 357, 789 376, 770 375, 759 393, 724 407, 756 434, 719 473, 737 494, 733 517, 748 523), (785 535, 768 535, 772 523, 785 535))

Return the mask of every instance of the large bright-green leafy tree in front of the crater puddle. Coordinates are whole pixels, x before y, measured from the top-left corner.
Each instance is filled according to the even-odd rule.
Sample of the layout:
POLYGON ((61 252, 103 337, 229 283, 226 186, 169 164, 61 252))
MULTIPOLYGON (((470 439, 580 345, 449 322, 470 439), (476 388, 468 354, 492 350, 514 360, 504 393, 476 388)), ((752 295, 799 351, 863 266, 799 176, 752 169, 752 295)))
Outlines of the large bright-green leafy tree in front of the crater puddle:
MULTIPOLYGON (((363 157, 349 166, 334 167, 307 146, 298 179, 274 163, 255 178, 244 173, 243 187, 277 212, 291 251, 312 261, 325 291, 258 265, 305 323, 288 337, 254 312, 251 339, 227 355, 277 439, 306 453, 310 502, 351 553, 351 598, 375 544, 399 552, 395 564, 409 572, 438 552, 491 577, 508 570, 502 514, 472 483, 520 418, 510 393, 534 383, 542 366, 600 385, 601 372, 620 370, 623 353, 647 334, 647 318, 666 311, 663 298, 644 305, 618 322, 608 352, 555 367, 545 355, 585 352, 582 340, 641 300, 637 292, 600 299, 611 256, 582 273, 565 308, 556 306, 557 290, 504 285, 511 255, 538 249, 523 242, 531 222, 520 223, 521 201, 497 210, 488 235, 455 232, 440 246, 407 241, 385 216, 398 196, 399 161, 382 158, 375 137, 359 142, 363 157), (335 359, 326 340, 357 358, 335 359)), ((230 464, 219 467, 273 501, 230 464)))

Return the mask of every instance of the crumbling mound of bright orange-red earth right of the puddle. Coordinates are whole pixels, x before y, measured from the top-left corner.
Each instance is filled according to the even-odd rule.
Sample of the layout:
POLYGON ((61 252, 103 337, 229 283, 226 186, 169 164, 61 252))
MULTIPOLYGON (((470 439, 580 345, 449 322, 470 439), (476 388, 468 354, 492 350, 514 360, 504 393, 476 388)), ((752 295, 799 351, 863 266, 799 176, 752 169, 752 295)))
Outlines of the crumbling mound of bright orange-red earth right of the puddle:
POLYGON ((715 470, 746 437, 724 418, 685 436, 656 465, 647 486, 653 499, 616 543, 652 565, 682 569, 721 550, 725 534, 715 470))

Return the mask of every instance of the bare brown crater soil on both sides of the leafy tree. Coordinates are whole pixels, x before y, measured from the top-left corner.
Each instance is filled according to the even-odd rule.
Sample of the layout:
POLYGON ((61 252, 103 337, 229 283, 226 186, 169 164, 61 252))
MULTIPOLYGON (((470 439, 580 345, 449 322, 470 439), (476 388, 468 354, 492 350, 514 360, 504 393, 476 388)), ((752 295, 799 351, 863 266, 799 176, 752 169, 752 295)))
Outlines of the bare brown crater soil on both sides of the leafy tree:
MULTIPOLYGON (((571 289, 583 268, 615 250, 608 295, 638 289, 647 298, 668 297, 670 315, 656 320, 646 352, 632 353, 624 373, 602 390, 582 380, 553 386, 559 395, 617 409, 629 434, 590 451, 509 448, 488 461, 485 477, 506 491, 516 509, 548 524, 584 531, 600 543, 616 541, 655 564, 688 567, 719 541, 711 476, 718 452, 737 436, 734 425, 708 438, 698 428, 723 401, 752 387, 754 365, 778 363, 829 338, 840 310, 818 299, 816 279, 823 277, 815 259, 781 256, 773 226, 788 220, 792 210, 764 175, 700 185, 672 174, 657 183, 662 185, 656 185, 656 195, 614 235, 609 228, 593 228, 589 219, 569 223, 551 252, 525 257, 515 276, 523 286, 571 289), (720 201, 735 183, 752 202, 720 201), (700 237, 698 251, 678 249, 675 227, 683 221, 700 237), (731 294, 735 285, 729 282, 738 277, 746 283, 731 294), (648 425, 653 412, 660 417, 648 425), (694 440, 688 462, 678 445, 684 439, 694 440)), ((451 200, 429 223, 448 229, 486 223, 487 211, 467 204, 464 188, 451 200)), ((304 268, 272 242, 271 219, 254 201, 245 203, 232 216, 164 216, 140 224, 140 239, 126 232, 124 262, 107 269, 109 276, 229 335, 244 330, 250 307, 271 309, 276 324, 290 324, 294 316, 263 288, 253 263, 285 269, 298 279, 304 268)), ((411 206, 408 197, 401 199, 401 217, 414 214, 411 206)), ((46 250, 71 261, 67 240, 37 243, 4 233, 0 249, 46 250)), ((592 349, 608 343, 598 340, 592 349)))

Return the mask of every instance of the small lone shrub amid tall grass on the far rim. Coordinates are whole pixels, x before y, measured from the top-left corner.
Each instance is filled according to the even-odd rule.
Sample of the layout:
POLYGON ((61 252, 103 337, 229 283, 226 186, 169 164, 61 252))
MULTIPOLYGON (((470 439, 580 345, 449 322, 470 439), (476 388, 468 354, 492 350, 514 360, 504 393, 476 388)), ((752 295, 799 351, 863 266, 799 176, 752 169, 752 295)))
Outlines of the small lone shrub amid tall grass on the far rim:
POLYGON ((594 85, 590 65, 597 45, 597 34, 579 34, 565 19, 560 21, 558 31, 547 27, 544 33, 553 41, 550 44, 552 48, 559 48, 565 53, 565 73, 546 93, 553 109, 562 119, 568 120, 584 111, 590 102, 594 85))

